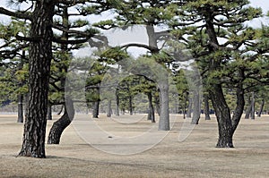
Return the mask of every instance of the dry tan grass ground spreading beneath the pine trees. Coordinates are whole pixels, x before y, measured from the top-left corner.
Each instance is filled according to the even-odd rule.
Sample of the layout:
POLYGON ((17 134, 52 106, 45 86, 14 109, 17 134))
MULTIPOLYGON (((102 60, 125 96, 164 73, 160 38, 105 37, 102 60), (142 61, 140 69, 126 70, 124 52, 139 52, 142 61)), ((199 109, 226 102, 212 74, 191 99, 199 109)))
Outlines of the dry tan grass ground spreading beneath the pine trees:
MULTIPOLYGON (((56 118, 48 121, 48 131, 56 118)), ((103 152, 88 143, 85 136, 96 133, 85 123, 88 118, 77 115, 76 123, 64 131, 60 145, 46 145, 47 158, 39 159, 16 157, 22 145, 23 124, 16 123, 13 114, 0 114, 0 177, 269 177, 269 115, 255 121, 242 119, 234 136, 235 148, 215 148, 218 131, 214 118, 202 118, 187 140, 179 142, 183 122, 179 117, 160 143, 125 156, 103 152), (91 131, 87 132, 88 127, 91 131)), ((110 141, 108 145, 98 142, 96 135, 95 146, 105 145, 103 148, 112 152, 113 148, 132 152, 132 148, 139 147, 138 143, 113 144, 117 141, 114 138, 141 136, 152 127, 142 115, 125 115, 117 122, 101 116, 94 124, 107 131, 110 141)), ((153 131, 149 143, 157 140, 158 134, 153 131)))

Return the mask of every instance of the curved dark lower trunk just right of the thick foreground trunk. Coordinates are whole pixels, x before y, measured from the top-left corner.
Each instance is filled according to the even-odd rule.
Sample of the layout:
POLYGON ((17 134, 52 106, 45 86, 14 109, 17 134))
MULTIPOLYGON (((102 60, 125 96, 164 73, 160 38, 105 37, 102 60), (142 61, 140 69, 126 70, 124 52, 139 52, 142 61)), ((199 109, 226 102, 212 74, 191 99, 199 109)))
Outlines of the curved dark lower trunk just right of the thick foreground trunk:
POLYGON ((71 98, 65 98, 65 113, 60 119, 53 123, 48 134, 48 144, 59 144, 63 131, 73 119, 74 103, 71 98))

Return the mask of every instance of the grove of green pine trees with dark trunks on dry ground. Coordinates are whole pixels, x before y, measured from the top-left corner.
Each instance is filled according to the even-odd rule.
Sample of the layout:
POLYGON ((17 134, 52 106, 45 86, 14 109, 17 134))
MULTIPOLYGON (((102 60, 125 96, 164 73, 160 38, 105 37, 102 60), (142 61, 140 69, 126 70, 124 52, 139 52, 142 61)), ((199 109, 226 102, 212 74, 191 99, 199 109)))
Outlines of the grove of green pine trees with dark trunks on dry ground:
MULTIPOLYGON (((18 103, 18 122, 24 122, 19 156, 46 157, 47 119, 54 105, 63 106, 65 111, 53 124, 48 143, 60 142, 62 132, 74 118, 76 102, 65 93, 66 74, 74 59, 73 51, 85 46, 98 47, 97 60, 88 69, 84 86, 87 106, 95 118, 99 116, 101 82, 107 80, 106 72, 118 72, 111 66, 125 60, 128 65, 120 67, 134 75, 118 83, 115 96, 102 96, 107 100, 108 117, 113 114, 114 103, 116 115, 119 110, 134 114, 134 96, 142 93, 148 102, 148 120, 155 123, 154 113, 159 114, 159 130, 169 131, 172 76, 177 88, 173 92, 179 100, 175 112, 184 114, 184 119, 185 114, 189 117, 193 113, 192 124, 198 124, 201 108, 205 119, 210 120, 212 107, 219 129, 216 147, 233 148, 233 135, 242 114, 246 112, 254 119, 256 110, 260 116, 266 106, 269 27, 251 27, 251 21, 262 17, 263 12, 247 0, 13 0, 11 4, 23 8, 0 7, 0 13, 11 18, 9 24, 0 24, 0 105, 18 103), (103 13, 110 13, 110 19, 102 21, 103 13), (96 22, 96 16, 100 21, 96 22), (109 47, 101 33, 135 25, 145 28, 147 45, 109 47), (94 42, 97 38, 101 47, 94 42), (143 48, 147 53, 134 60, 127 53, 130 47, 143 48), (186 72, 178 65, 190 59, 198 69, 191 82, 203 85, 203 90, 190 87, 186 72), (143 61, 140 67, 130 68, 139 60, 143 61), (144 61, 152 66, 144 67, 144 61), (157 75, 159 79, 147 77, 153 69, 162 73, 157 75), (255 102, 260 104, 258 109, 255 102)), ((83 63, 84 59, 76 60, 83 63)))

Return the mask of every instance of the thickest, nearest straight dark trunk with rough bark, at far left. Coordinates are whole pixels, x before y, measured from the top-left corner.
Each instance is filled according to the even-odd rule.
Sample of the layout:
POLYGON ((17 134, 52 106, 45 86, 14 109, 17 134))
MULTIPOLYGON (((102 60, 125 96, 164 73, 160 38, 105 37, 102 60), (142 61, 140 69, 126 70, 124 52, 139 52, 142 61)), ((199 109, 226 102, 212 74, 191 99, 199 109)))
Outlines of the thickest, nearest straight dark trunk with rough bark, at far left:
POLYGON ((29 102, 19 156, 46 157, 45 136, 48 111, 48 76, 52 59, 51 24, 55 2, 35 2, 30 28, 29 102))

